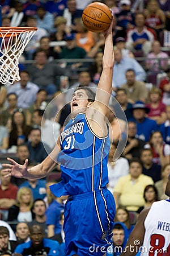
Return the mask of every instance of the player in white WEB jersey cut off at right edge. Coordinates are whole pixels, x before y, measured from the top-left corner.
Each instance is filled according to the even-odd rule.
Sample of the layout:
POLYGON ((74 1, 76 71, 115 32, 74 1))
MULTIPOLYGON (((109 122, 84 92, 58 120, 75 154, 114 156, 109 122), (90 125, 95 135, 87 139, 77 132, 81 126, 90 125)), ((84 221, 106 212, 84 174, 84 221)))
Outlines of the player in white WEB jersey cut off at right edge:
MULTIPOLYGON (((170 197, 170 175, 165 193, 170 197)), ((121 256, 134 256, 138 250, 141 256, 170 255, 170 199, 155 202, 139 214, 121 256)))

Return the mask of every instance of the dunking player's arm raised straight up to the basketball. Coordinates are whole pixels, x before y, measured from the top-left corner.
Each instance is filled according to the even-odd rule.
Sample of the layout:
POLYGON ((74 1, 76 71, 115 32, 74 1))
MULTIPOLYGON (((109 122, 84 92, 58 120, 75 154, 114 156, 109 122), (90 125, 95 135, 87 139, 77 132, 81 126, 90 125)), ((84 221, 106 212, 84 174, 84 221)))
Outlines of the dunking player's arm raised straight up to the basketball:
POLYGON ((113 76, 113 66, 114 66, 114 52, 113 52, 113 41, 112 41, 112 27, 113 19, 111 25, 107 30, 103 32, 105 37, 105 47, 103 55, 103 71, 98 84, 98 89, 96 92, 96 98, 94 102, 94 107, 96 104, 101 107, 101 111, 106 114, 108 112, 109 99, 112 92, 112 76, 113 76))

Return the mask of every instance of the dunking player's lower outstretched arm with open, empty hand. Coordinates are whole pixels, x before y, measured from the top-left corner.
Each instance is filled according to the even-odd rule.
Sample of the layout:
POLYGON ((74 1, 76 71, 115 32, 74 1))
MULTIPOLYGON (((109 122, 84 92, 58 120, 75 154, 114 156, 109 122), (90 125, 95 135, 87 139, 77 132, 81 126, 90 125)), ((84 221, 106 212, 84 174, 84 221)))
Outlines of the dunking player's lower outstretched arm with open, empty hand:
POLYGON ((3 173, 7 176, 15 176, 25 179, 40 179, 47 176, 57 165, 56 158, 60 151, 59 139, 54 147, 53 151, 42 161, 42 163, 37 164, 36 166, 28 169, 28 159, 25 160, 23 165, 16 163, 13 159, 7 158, 11 164, 2 164, 5 167, 5 170, 2 170, 3 173))

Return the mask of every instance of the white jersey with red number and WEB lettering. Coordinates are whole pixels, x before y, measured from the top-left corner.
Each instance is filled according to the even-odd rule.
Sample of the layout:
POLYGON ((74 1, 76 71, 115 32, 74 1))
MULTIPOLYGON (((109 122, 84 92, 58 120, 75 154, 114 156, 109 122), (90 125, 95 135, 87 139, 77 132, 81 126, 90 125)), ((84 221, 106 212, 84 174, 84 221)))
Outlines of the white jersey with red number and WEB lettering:
POLYGON ((170 255, 170 201, 152 204, 144 222, 145 237, 141 256, 170 255))

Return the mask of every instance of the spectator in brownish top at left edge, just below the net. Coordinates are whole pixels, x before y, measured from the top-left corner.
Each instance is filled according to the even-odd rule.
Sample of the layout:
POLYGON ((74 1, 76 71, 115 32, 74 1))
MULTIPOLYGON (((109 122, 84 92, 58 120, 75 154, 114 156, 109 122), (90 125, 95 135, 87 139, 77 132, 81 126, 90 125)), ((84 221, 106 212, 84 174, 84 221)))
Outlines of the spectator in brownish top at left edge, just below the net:
POLYGON ((1 112, 1 124, 7 126, 8 122, 11 123, 12 114, 17 108, 17 95, 16 93, 8 93, 6 96, 8 107, 1 112))

